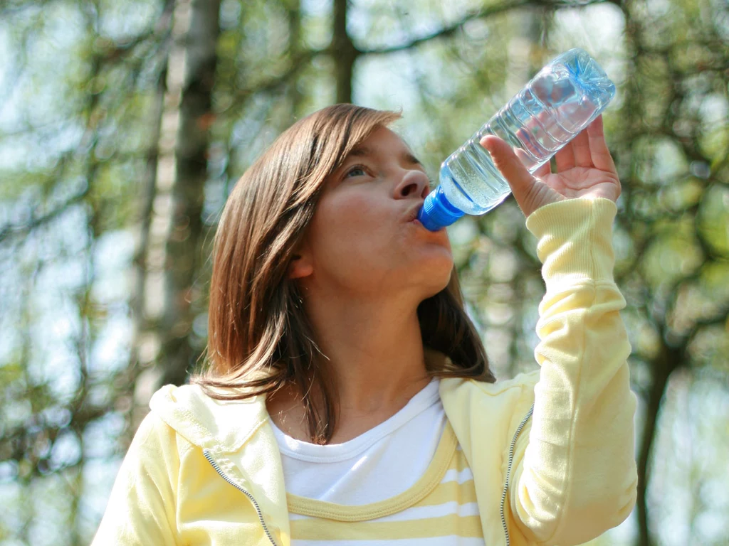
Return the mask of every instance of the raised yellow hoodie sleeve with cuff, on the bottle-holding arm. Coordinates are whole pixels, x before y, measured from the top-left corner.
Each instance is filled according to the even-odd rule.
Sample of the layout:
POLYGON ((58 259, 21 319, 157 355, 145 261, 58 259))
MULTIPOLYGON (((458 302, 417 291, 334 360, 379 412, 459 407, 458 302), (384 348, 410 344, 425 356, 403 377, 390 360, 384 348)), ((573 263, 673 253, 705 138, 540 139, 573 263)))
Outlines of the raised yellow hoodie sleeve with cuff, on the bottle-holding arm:
POLYGON ((636 502, 631 345, 613 280, 610 199, 567 199, 534 211, 546 292, 534 350, 534 413, 515 446, 509 502, 539 545, 587 542, 622 523, 636 502))

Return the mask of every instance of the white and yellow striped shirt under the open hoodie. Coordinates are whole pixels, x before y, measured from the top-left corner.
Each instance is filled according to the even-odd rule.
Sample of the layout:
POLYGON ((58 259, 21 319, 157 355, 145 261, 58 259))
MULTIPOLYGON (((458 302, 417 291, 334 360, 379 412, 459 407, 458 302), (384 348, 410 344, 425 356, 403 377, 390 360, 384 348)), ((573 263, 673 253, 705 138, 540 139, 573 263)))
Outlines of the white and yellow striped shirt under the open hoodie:
POLYGON ((473 476, 434 379, 349 442, 315 446, 274 427, 293 546, 483 546, 473 476))

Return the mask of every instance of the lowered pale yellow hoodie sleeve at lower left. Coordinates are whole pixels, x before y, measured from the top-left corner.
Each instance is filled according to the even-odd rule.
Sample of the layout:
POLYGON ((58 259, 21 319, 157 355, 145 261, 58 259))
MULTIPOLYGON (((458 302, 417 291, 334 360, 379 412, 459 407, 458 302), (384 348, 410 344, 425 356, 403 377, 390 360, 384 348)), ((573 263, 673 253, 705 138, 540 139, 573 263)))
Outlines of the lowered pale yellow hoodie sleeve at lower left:
POLYGON ((176 545, 175 432, 153 412, 139 425, 91 546, 176 545))

